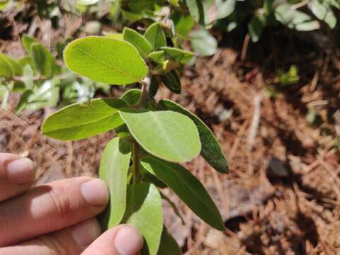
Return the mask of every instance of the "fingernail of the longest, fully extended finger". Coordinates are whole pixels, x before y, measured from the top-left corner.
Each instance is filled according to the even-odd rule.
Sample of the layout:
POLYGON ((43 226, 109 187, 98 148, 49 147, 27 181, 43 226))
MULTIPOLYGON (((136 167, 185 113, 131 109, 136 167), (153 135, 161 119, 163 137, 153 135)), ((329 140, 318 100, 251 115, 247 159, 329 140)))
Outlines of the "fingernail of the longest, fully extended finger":
POLYGON ((82 183, 81 193, 90 205, 106 205, 108 203, 108 188, 100 179, 82 183))

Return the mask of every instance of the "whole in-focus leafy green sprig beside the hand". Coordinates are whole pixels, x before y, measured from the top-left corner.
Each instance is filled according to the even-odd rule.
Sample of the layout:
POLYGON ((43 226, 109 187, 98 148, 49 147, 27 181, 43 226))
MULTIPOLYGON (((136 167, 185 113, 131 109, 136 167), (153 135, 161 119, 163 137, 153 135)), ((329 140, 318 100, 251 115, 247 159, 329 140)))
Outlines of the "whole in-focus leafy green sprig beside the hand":
MULTIPOLYGON (((192 52, 167 45, 160 23, 144 35, 90 36, 69 43, 64 62, 72 72, 113 85, 139 84, 120 98, 75 103, 50 115, 42 132, 58 140, 80 140, 115 130, 103 152, 99 176, 110 189, 110 205, 101 215, 103 229, 123 222, 136 225, 145 239, 142 254, 181 254, 163 223, 162 188, 169 187, 208 225, 224 222, 203 185, 181 163, 201 154, 220 173, 227 160, 212 131, 174 101, 155 101, 159 86, 181 93, 178 69, 192 52)), ((174 206, 173 203, 171 205, 174 206)), ((178 213, 178 210, 175 212, 178 213)))

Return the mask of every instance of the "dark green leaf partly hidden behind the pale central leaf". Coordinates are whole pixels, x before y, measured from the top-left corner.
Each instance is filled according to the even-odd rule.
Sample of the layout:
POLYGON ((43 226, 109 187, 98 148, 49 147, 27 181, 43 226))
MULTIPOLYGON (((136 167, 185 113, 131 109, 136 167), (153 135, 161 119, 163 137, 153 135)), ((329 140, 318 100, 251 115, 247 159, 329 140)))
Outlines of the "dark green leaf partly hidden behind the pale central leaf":
POLYGON ((193 120, 193 123, 195 123, 198 133, 200 134, 200 143, 202 144, 200 154, 210 164, 210 166, 220 173, 226 174, 229 170, 227 159, 225 159, 225 155, 223 154, 222 149, 210 128, 208 128, 208 126, 205 125, 200 118, 180 106, 178 103, 163 99, 159 101, 159 105, 168 110, 187 115, 191 118, 191 120, 193 120))

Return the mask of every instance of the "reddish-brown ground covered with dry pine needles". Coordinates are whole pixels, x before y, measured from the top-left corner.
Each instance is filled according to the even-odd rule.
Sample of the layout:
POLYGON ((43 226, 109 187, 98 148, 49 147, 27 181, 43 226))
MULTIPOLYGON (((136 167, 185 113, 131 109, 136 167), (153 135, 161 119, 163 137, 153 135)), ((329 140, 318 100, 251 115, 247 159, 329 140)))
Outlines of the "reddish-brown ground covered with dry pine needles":
MULTIPOLYGON (((18 40, 22 33, 33 33, 51 45, 54 38, 72 35, 82 23, 74 21, 70 28, 65 16, 62 33, 52 30, 47 21, 18 26, 15 17, 0 16, 0 29, 4 24, 11 28, 10 36, 1 38, 0 49, 14 56, 22 54, 18 40)), ((259 44, 243 48, 244 37, 233 43, 237 35, 218 36, 222 47, 213 57, 198 58, 193 67, 183 70, 183 94, 161 89, 157 97, 186 106, 220 141, 229 174, 218 174, 200 157, 188 169, 208 188, 227 231, 208 227, 165 190, 186 221, 182 225, 164 203, 169 231, 185 254, 340 254, 337 49, 314 47, 284 33, 263 35, 259 44), (300 81, 282 87, 276 74, 290 64, 300 69, 300 81), (268 92, 273 87, 275 96, 268 92), (317 113, 313 124, 306 118, 309 109, 317 113)), ((17 99, 11 97, 12 105, 17 99)), ((101 152, 114 134, 79 142, 51 140, 40 134, 40 125, 54 110, 18 116, 0 111, 0 151, 32 158, 38 167, 37 184, 96 175, 101 152)))

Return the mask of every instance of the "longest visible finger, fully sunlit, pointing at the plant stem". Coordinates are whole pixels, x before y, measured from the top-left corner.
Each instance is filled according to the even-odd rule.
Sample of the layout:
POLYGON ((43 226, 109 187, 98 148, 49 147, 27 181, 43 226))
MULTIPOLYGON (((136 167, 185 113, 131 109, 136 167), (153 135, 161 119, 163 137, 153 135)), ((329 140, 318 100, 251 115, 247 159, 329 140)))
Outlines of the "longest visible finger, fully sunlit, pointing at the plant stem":
POLYGON ((89 177, 31 188, 0 203, 0 247, 74 225, 102 212, 107 203, 105 183, 89 177))

